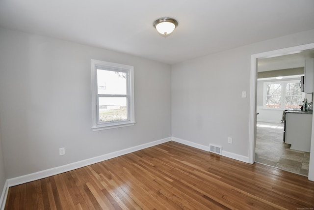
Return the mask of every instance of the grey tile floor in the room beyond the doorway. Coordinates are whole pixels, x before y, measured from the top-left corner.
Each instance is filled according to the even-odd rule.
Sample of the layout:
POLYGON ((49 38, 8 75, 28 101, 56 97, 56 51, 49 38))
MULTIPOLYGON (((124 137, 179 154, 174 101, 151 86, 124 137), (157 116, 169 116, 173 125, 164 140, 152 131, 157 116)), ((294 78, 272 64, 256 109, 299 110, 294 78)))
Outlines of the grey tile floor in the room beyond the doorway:
POLYGON ((310 153, 290 150, 283 141, 284 124, 257 122, 255 161, 308 176, 310 153))

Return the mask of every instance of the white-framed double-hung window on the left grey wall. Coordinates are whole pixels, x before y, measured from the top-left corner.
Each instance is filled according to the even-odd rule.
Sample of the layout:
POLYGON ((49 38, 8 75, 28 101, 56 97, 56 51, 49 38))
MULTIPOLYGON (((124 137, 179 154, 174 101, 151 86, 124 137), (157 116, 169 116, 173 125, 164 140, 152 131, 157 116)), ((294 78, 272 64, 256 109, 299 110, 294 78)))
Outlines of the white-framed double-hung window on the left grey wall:
POLYGON ((94 131, 134 125, 133 66, 91 60, 94 131))

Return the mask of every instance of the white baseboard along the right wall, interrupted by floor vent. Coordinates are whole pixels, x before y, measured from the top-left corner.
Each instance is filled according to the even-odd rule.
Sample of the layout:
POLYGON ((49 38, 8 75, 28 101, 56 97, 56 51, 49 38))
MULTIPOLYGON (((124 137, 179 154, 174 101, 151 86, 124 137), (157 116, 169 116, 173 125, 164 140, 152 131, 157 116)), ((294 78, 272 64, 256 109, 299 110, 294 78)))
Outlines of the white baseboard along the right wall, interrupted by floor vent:
MULTIPOLYGON (((183 140, 183 139, 179 139, 179 138, 176 138, 176 137, 172 137, 172 141, 178 142, 178 143, 181 143, 183 145, 187 145, 187 146, 190 146, 190 147, 193 147, 193 148, 197 148, 197 149, 200 149, 200 150, 209 151, 209 146, 200 145, 200 144, 197 144, 197 143, 194 143, 194 142, 189 142, 189 141, 186 141, 186 140, 183 140)), ((235 154, 235 153, 232 153, 232 152, 229 152, 229 151, 222 150, 221 155, 225 156, 225 157, 229 157, 229 158, 235 159, 235 160, 239 160, 239 161, 242 161, 242 162, 245 162, 245 163, 249 162, 249 157, 246 157, 246 156, 243 156, 243 155, 239 155, 239 154, 235 154)))

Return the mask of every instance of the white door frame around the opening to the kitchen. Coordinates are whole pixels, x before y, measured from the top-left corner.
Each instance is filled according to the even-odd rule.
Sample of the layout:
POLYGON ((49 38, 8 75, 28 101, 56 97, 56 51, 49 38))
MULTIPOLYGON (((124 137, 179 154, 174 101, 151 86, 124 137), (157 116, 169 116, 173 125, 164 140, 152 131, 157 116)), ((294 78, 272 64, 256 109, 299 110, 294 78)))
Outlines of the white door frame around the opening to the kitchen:
MULTIPOLYGON (((256 146, 256 97, 257 97, 257 60, 262 58, 272 58, 289 54, 300 53, 304 50, 314 49, 314 43, 288 47, 251 55, 251 78, 250 78, 250 114, 249 114, 249 152, 248 162, 255 162, 256 146)), ((314 124, 312 126, 311 149, 314 148, 314 124)), ((311 150, 312 151, 312 150, 311 150)), ((313 154, 314 155, 314 154, 313 154)), ((311 155, 311 156, 313 156, 311 155)), ((313 159, 313 158, 312 158, 313 159)), ((311 168, 311 157, 310 157, 311 168)), ((314 178, 314 171, 309 170, 309 180, 314 178)))

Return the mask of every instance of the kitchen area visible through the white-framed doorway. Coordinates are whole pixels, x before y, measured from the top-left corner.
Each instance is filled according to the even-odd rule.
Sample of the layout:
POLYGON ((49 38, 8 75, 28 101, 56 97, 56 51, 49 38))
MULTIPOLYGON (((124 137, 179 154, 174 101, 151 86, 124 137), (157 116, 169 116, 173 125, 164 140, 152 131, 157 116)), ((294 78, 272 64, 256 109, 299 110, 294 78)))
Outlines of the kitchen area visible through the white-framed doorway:
POLYGON ((313 90, 302 87, 312 63, 314 50, 258 60, 256 162, 308 176, 313 90))

